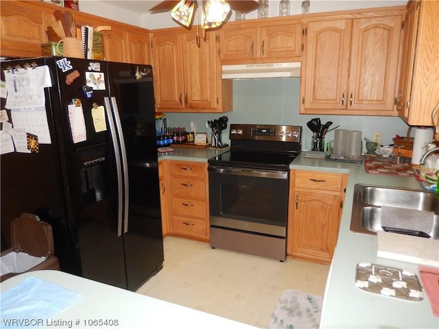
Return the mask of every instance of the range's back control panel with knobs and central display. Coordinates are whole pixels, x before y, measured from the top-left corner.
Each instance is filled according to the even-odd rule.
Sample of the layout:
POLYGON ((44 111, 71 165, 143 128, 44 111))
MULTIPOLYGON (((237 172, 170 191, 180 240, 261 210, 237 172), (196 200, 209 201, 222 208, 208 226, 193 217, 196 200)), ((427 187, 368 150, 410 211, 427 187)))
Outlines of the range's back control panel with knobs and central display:
POLYGON ((231 124, 230 140, 285 141, 300 143, 302 127, 298 125, 231 124))

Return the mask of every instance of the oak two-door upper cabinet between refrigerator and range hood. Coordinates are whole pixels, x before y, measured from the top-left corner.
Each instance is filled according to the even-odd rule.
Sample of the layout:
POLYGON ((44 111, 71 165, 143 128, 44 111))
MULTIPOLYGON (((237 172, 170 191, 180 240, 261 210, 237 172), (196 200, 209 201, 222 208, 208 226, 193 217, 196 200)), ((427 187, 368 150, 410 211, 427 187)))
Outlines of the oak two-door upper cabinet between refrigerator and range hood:
POLYGON ((166 112, 231 110, 231 81, 222 81, 214 33, 171 29, 152 36, 156 109, 166 112))

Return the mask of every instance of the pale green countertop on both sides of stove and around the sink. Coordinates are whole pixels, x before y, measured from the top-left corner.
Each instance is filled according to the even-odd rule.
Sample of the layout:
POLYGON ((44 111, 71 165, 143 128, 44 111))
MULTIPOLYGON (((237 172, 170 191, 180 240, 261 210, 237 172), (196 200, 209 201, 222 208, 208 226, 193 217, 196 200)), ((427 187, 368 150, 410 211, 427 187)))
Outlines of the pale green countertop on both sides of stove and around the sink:
MULTIPOLYGON (((161 159, 192 160, 207 159, 226 150, 177 149, 172 154, 161 154, 161 159)), ((377 257, 377 236, 351 232, 351 211, 355 184, 375 184, 421 190, 413 177, 372 175, 366 173, 364 163, 337 162, 303 158, 300 154, 290 169, 347 173, 349 175, 340 232, 326 291, 320 328, 439 328, 439 318, 434 317, 427 294, 420 302, 410 302, 394 297, 361 291, 355 287, 355 269, 358 263, 376 263, 407 269, 418 274, 418 265, 377 257)))

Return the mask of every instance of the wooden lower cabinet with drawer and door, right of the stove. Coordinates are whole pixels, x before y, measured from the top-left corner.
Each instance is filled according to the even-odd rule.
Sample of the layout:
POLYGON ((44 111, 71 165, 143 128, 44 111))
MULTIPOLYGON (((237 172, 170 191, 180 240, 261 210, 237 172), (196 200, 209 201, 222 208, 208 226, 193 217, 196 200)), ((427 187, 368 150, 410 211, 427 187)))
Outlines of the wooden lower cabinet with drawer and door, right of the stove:
POLYGON ((348 175, 292 170, 287 254, 330 264, 337 244, 348 175))

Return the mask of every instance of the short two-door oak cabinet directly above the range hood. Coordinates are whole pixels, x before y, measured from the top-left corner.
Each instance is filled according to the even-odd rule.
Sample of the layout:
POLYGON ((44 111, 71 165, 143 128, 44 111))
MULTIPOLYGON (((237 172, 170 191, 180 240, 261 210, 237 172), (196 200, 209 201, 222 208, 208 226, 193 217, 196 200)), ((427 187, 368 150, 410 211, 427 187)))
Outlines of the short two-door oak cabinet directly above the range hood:
POLYGON ((222 64, 288 62, 302 54, 302 23, 235 23, 219 29, 222 64))

